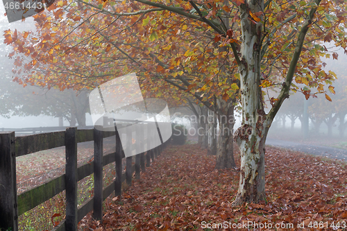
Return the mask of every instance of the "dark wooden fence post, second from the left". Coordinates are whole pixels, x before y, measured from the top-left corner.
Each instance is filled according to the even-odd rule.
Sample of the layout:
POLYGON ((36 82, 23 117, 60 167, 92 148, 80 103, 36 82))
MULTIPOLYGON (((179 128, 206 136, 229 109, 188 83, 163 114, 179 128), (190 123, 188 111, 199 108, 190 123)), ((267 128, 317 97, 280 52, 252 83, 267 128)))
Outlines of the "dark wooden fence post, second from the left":
POLYGON ((65 228, 77 231, 77 128, 65 131, 65 185, 66 185, 66 222, 65 228))

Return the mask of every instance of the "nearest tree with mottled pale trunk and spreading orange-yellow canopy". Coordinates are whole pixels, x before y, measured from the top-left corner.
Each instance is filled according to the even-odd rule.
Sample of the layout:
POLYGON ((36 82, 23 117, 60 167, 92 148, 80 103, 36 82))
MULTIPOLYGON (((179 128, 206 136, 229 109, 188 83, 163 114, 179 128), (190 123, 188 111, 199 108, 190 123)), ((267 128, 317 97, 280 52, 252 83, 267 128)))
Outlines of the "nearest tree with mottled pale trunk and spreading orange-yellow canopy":
MULTIPOLYGON (((55 7, 68 3, 58 4, 55 7)), ((219 117, 232 115, 235 98, 231 96, 239 83, 242 127, 236 131, 235 141, 242 164, 233 203, 239 205, 265 199, 266 135, 289 92, 299 90, 306 99, 325 93, 330 100, 326 92, 333 92, 335 74, 323 70, 320 57, 328 52, 322 42, 333 41, 346 51, 342 4, 325 0, 78 0, 68 14, 51 8, 53 13, 37 15, 40 37, 7 31, 6 42, 31 55, 28 71, 48 67, 47 71, 40 69, 45 74, 28 74, 25 83, 61 89, 95 87, 109 76, 132 69, 142 76, 143 85, 158 92, 178 87, 215 108, 219 117), (112 68, 115 62, 118 69, 112 68), (299 83, 305 87, 298 87, 299 83), (266 114, 263 89, 274 84, 281 86, 280 92, 269 99, 271 109, 266 114)), ((221 118, 219 121, 223 125, 221 118)), ((228 121, 224 125, 231 128, 228 121)), ((219 149, 230 148, 229 138, 221 137, 219 149)), ((217 154, 217 164, 226 160, 223 157, 226 155, 217 154)))

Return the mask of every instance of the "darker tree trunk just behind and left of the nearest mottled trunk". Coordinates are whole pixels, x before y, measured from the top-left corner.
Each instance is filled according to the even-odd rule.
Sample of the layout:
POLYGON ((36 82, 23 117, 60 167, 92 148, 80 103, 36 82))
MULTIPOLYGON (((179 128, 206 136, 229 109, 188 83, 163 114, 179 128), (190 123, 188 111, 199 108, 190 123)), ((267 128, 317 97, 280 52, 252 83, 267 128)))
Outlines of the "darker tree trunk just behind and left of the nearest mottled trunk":
MULTIPOLYGON (((222 104, 227 103, 223 101, 222 104)), ((235 124, 234 106, 232 103, 224 105, 221 112, 224 113, 218 115, 219 137, 215 169, 231 169, 236 167, 232 139, 235 124)))

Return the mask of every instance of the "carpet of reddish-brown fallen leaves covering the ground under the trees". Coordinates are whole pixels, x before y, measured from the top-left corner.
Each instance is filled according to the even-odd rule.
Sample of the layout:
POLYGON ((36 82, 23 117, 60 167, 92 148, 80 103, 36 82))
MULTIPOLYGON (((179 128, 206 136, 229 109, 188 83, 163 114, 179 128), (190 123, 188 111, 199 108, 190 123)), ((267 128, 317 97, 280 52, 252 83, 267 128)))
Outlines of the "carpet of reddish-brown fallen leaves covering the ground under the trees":
MULTIPOLYGON (((239 166, 239 153, 235 159, 239 166)), ((342 162, 267 147, 267 202, 242 207, 231 205, 239 173, 214 170, 214 164, 215 156, 196 144, 170 146, 121 200, 106 201, 103 223, 88 214, 80 229, 203 230, 208 223, 213 230, 276 230, 276 224, 282 224, 277 230, 347 228, 342 226, 347 226, 347 166, 342 162), (212 226, 217 223, 229 226, 212 226), (244 223, 263 226, 232 228, 244 223)))

